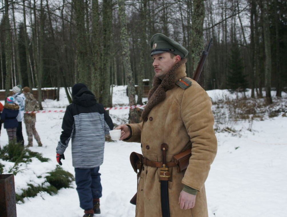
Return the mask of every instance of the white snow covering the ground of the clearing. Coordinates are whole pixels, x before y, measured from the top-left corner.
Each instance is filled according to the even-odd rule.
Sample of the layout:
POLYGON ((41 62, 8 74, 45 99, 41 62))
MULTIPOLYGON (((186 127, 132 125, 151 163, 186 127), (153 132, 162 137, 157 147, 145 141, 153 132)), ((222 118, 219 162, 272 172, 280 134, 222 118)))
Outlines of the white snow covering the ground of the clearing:
MULTIPOLYGON (((123 86, 113 88, 113 105, 127 105, 128 97, 123 86)), ((275 92, 272 92, 274 95, 275 92)), ((229 94, 224 90, 208 91, 212 99, 229 94)), ((247 93, 249 95, 250 93, 247 93)), ((283 95, 287 98, 286 94, 283 95)), ((143 99, 146 101, 147 99, 143 99)), ((60 101, 45 100, 45 110, 64 108, 68 105, 65 91, 61 89, 60 101)), ((128 110, 110 110, 116 124, 123 124, 128 117, 128 110)), ((37 176, 55 169, 57 164, 55 149, 61 134, 63 113, 37 114, 36 129, 43 147, 37 147, 36 141, 30 149, 43 153, 51 159, 48 163, 32 161, 32 171, 24 171, 15 176, 18 191, 25 183, 35 183, 37 176)), ((209 216, 216 217, 280 217, 287 216, 287 117, 270 118, 254 121, 252 132, 247 130, 250 123, 241 122, 233 126, 241 130, 241 136, 228 132, 217 132, 218 154, 211 166, 205 183, 209 216), (284 205, 285 204, 285 205, 284 205), (284 208, 285 207, 285 208, 284 208)), ((25 145, 26 130, 23 123, 25 145)), ((1 147, 8 138, 2 128, 1 147)), ((129 203, 136 192, 136 174, 131 168, 129 155, 141 152, 140 144, 121 141, 106 142, 104 163, 100 167, 103 196, 101 212, 98 216, 134 216, 135 206, 129 203)), ((74 174, 71 159, 71 146, 65 151, 63 169, 74 174)), ((36 183, 35 183, 36 184, 36 183)), ((75 183, 73 184, 75 187, 75 183)), ((82 217, 79 199, 74 189, 61 189, 58 195, 39 193, 35 198, 25 198, 24 204, 17 204, 17 216, 44 217, 82 217)))

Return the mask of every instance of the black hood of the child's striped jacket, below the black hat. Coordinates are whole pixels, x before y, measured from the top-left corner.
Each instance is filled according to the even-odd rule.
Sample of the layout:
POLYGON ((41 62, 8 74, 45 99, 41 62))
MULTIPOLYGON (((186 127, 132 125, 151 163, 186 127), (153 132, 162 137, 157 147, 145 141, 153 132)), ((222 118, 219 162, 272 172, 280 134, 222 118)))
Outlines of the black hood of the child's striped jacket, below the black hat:
POLYGON ((95 105, 97 100, 95 99, 95 95, 89 91, 86 87, 82 87, 79 92, 74 96, 73 103, 88 107, 95 105))

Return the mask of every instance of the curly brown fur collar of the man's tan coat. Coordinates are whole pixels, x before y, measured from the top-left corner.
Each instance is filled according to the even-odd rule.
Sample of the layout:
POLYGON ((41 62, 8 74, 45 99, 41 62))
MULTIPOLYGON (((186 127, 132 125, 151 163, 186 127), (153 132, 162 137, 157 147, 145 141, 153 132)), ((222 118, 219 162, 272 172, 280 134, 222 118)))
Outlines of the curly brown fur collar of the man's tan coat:
POLYGON ((163 80, 154 76, 152 82, 152 89, 148 93, 148 104, 144 108, 144 111, 141 114, 141 120, 150 113, 150 110, 158 103, 162 102, 166 97, 166 91, 172 89, 175 86, 175 78, 177 75, 177 70, 182 64, 185 64, 187 61, 186 58, 183 58, 179 62, 175 63, 173 67, 169 70, 167 75, 163 80))

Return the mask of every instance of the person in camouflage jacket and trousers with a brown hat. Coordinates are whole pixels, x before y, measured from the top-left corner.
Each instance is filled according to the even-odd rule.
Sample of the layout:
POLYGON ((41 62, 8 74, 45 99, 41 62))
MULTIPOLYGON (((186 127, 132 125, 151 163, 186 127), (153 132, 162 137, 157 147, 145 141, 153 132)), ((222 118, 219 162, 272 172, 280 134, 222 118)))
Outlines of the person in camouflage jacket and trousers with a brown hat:
MULTIPOLYGON (((25 100, 25 112, 37 112, 39 111, 40 107, 36 99, 34 98, 33 94, 30 93, 30 88, 29 87, 24 87, 23 88, 23 93, 26 97, 25 100)), ((27 147, 32 147, 33 146, 33 135, 38 142, 38 146, 42 146, 40 136, 38 135, 38 132, 36 131, 35 128, 35 123, 36 123, 36 114, 24 114, 24 122, 26 125, 26 132, 28 136, 28 146, 27 147)))

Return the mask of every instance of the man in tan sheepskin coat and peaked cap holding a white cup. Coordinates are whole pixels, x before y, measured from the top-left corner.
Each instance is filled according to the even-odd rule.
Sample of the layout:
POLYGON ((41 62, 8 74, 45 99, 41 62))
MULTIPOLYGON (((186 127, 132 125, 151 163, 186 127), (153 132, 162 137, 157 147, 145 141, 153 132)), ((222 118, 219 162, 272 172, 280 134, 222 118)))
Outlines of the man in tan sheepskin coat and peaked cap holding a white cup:
MULTIPOLYGON (((174 155, 191 147, 186 170, 168 168, 170 217, 207 217, 204 183, 217 152, 212 103, 204 89, 186 77, 188 51, 183 46, 159 33, 152 37, 150 46, 156 74, 142 112, 143 122, 116 129, 122 130, 121 140, 141 143, 143 157, 149 161, 162 162, 162 143, 168 146, 166 162, 172 162, 174 155)), ((144 161, 136 216, 162 216, 160 184, 160 168, 144 161)))

